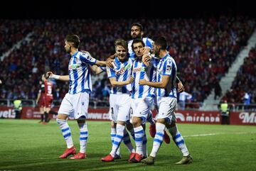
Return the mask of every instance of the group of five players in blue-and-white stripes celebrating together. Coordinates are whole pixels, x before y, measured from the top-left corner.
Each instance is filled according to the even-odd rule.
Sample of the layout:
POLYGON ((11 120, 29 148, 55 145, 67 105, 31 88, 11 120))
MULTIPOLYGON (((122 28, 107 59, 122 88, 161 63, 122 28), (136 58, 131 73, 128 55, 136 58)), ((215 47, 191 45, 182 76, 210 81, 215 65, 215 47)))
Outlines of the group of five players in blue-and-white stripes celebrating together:
MULTIPOLYGON (((86 51, 78 51, 78 35, 65 38, 65 50, 70 53, 69 75, 54 75, 47 72, 46 77, 70 82, 69 92, 65 95, 58 111, 57 123, 65 138, 67 148, 59 158, 86 158, 87 145, 87 108, 89 94, 92 92, 90 70, 97 74, 106 71, 112 89, 110 92, 110 120, 112 121, 112 150, 102 158, 103 162, 112 162, 121 158, 119 145, 124 142, 130 152, 129 162, 154 164, 156 153, 167 135, 171 134, 174 143, 183 153, 183 158, 176 164, 192 162, 188 148, 176 126, 174 111, 177 104, 177 67, 174 58, 167 51, 167 40, 159 37, 153 40, 143 38, 140 23, 131 26, 132 40, 117 39, 114 42, 115 54, 107 61, 93 58, 86 51), (151 107, 156 106, 157 115, 152 117, 151 107), (74 116, 80 128, 80 152, 76 154, 73 145, 68 116, 74 116), (154 137, 150 155, 146 149, 145 123, 151 124, 151 136, 154 137), (129 133, 135 140, 133 147, 129 133)), ((179 82, 179 80, 178 80, 179 82)), ((178 91, 183 85, 179 84, 178 91)))

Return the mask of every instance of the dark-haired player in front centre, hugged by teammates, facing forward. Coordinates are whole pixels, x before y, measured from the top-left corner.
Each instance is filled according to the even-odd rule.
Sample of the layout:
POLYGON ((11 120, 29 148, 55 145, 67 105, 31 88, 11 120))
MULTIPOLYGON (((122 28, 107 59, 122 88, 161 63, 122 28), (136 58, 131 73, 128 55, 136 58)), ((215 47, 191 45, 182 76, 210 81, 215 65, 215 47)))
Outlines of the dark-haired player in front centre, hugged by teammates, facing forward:
MULTIPOLYGON (((132 43, 134 50, 134 59, 132 75, 135 82, 132 84, 132 124, 134 127, 134 136, 136 144, 136 154, 130 162, 140 162, 146 158, 146 150, 143 150, 143 142, 146 142, 145 123, 151 106, 154 102, 155 89, 149 86, 139 85, 140 79, 147 79, 154 82, 154 65, 146 66, 143 58, 144 42, 142 39, 135 39, 132 43)), ((154 60, 156 62, 156 60, 154 60)), ((156 64, 155 64, 156 65, 156 64)), ((156 66, 155 66, 156 68, 156 66)))

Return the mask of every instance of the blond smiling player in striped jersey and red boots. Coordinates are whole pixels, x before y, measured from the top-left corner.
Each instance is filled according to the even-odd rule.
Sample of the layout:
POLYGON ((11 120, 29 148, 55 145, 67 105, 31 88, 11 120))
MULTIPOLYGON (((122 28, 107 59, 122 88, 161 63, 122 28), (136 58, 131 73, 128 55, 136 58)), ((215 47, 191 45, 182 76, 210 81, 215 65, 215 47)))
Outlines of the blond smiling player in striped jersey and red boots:
MULTIPOLYGON (((130 104, 131 104, 131 83, 134 82, 132 73, 133 60, 127 57, 127 42, 117 39, 114 43, 117 57, 114 59, 114 68, 107 67, 107 76, 112 84, 110 92, 110 118, 114 121, 116 133, 113 134, 112 150, 109 155, 102 158, 103 162, 114 161, 120 143, 124 140, 129 152, 131 153, 129 160, 134 155, 129 134, 125 129, 125 124, 129 121, 130 104)), ((113 127, 113 126, 112 126, 113 127)))

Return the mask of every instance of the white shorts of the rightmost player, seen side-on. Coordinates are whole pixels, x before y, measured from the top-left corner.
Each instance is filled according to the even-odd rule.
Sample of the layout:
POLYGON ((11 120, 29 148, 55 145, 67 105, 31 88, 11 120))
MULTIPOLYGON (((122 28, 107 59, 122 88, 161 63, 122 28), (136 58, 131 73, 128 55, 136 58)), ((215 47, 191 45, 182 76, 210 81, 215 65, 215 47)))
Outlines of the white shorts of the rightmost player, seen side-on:
POLYGON ((171 121, 176 121, 175 109, 177 105, 177 99, 169 96, 158 96, 157 97, 157 107, 159 113, 157 118, 165 118, 168 123, 171 121))

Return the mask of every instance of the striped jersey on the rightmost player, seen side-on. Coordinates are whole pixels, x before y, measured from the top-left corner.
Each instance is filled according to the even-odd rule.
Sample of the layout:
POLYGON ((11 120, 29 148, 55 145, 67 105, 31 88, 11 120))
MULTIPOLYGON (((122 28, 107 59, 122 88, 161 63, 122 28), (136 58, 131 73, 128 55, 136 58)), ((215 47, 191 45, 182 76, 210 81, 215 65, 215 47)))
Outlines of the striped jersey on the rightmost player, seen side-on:
POLYGON ((176 75, 177 66, 174 58, 167 54, 157 65, 156 82, 161 82, 163 75, 170 76, 166 89, 156 89, 156 96, 171 96, 177 98, 176 75))

